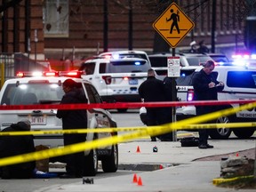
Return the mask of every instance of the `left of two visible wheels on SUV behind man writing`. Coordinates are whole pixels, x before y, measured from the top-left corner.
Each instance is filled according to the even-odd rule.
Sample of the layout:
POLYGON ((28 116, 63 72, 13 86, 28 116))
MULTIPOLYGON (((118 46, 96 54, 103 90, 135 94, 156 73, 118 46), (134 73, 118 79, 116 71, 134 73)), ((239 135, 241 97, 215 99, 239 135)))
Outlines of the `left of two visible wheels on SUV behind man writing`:
MULTIPOLYGON (((228 124, 230 123, 230 116, 220 116, 216 120, 216 124, 228 124)), ((227 140, 230 136, 232 130, 222 127, 218 129, 211 129, 209 132, 210 137, 213 140, 227 140)))

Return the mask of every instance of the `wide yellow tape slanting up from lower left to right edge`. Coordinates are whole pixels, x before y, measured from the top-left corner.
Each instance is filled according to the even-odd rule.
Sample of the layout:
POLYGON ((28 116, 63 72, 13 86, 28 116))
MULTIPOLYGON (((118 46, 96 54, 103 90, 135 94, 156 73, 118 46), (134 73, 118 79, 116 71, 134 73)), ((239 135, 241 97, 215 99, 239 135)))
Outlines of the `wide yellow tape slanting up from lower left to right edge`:
POLYGON ((237 108, 228 108, 221 111, 216 111, 216 112, 213 112, 212 114, 192 117, 192 118, 185 119, 173 124, 164 124, 161 127, 150 126, 147 129, 142 129, 137 132, 116 135, 110 138, 104 138, 100 140, 92 140, 92 141, 77 143, 77 144, 65 146, 65 148, 51 148, 43 151, 23 154, 20 156, 5 157, 0 159, 0 166, 8 165, 8 164, 20 164, 20 163, 29 162, 29 161, 45 159, 53 156, 68 155, 72 153, 81 152, 84 150, 90 150, 92 148, 100 148, 100 147, 105 147, 109 145, 116 145, 124 141, 134 140, 147 135, 156 136, 158 134, 170 132, 173 129, 177 130, 177 128, 179 128, 181 125, 184 125, 184 124, 198 124, 201 122, 218 118, 219 116, 228 116, 230 114, 234 114, 238 111, 249 109, 249 108, 256 108, 256 102, 245 104, 237 108))

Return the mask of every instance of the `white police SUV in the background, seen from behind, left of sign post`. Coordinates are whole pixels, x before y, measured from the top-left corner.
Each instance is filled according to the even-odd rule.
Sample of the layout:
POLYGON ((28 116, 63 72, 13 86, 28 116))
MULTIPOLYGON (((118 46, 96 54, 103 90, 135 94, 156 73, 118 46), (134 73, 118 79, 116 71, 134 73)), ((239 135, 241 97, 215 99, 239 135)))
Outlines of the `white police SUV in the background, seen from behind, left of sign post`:
MULTIPOLYGON (((98 58, 86 60, 79 71, 82 78, 92 82, 102 100, 140 102, 139 87, 147 79, 150 64, 140 58, 98 58)), ((125 112, 127 108, 119 108, 125 112)))

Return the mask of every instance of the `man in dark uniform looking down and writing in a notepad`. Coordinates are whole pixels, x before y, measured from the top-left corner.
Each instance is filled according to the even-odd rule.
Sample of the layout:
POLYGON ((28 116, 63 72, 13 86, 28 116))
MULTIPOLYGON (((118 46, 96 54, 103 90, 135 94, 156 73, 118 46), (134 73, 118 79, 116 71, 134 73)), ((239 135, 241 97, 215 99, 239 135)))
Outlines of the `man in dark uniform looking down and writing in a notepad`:
MULTIPOLYGON (((194 86, 194 100, 218 100, 218 91, 224 89, 224 83, 216 80, 212 76, 214 69, 214 62, 212 60, 206 61, 204 68, 197 73, 193 79, 194 86)), ((216 106, 196 106, 196 116, 212 113, 217 110, 216 106)), ((198 148, 213 148, 208 144, 209 130, 199 129, 199 144, 198 148)))

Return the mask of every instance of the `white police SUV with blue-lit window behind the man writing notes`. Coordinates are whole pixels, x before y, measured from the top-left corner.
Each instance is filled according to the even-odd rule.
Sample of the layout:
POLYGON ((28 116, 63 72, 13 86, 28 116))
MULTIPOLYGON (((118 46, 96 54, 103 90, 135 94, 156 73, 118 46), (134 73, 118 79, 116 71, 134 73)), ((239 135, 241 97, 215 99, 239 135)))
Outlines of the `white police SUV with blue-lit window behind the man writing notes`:
MULTIPOLYGON (((193 86, 192 78, 201 68, 196 68, 195 72, 189 76, 184 76, 187 79, 188 100, 193 100, 193 86)), ((237 66, 216 66, 213 70, 213 75, 217 77, 218 81, 224 82, 225 87, 223 91, 218 92, 218 100, 255 100, 256 98, 256 69, 245 68, 237 66)), ((179 94, 179 93, 178 93, 179 94)), ((220 109, 235 108, 238 104, 220 105, 220 109)), ((196 116, 196 108, 194 106, 181 107, 176 110, 177 120, 186 119, 196 116)), ((220 116, 215 120, 216 123, 236 123, 236 122, 255 122, 256 110, 243 110, 236 112, 230 116, 220 116)), ((218 128, 210 131, 212 139, 228 139, 231 132, 234 132, 238 138, 250 138, 255 131, 252 128, 218 128)))

